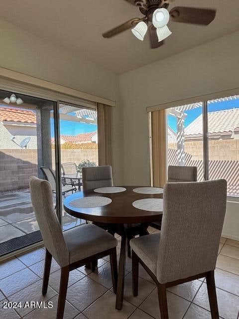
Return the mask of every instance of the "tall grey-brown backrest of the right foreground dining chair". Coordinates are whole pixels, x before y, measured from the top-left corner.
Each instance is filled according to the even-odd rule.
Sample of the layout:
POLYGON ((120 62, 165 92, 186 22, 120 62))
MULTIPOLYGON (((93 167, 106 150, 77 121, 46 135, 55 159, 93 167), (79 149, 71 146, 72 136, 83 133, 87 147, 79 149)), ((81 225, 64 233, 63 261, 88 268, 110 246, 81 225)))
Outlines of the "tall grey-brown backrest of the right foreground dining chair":
POLYGON ((226 202, 225 179, 164 185, 157 260, 160 283, 215 269, 226 202))

